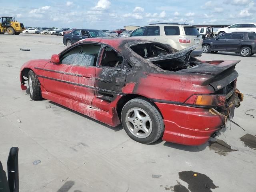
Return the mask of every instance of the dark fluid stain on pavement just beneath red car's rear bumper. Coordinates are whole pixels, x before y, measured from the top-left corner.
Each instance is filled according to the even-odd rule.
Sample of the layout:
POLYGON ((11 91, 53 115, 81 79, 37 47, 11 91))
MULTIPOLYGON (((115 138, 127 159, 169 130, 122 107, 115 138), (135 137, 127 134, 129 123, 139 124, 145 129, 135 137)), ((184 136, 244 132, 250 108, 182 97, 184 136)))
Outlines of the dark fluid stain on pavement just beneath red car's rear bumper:
POLYGON ((216 141, 209 141, 209 148, 210 150, 216 151, 215 153, 223 156, 226 156, 228 152, 238 151, 232 149, 230 145, 220 139, 217 139, 216 141))

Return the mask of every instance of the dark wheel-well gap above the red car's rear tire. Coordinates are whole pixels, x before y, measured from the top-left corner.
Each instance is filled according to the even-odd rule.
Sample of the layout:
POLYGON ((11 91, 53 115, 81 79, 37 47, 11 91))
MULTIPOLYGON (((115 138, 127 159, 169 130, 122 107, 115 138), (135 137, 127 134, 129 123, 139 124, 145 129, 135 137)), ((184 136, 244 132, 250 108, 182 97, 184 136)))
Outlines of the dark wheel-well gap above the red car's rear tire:
POLYGON ((122 96, 122 97, 118 100, 118 102, 117 102, 117 104, 116 104, 116 112, 117 112, 117 114, 118 114, 118 117, 119 117, 120 121, 121 121, 121 112, 122 112, 122 109, 123 109, 124 105, 125 105, 128 101, 130 101, 130 100, 132 100, 132 99, 134 99, 134 98, 139 98, 139 97, 148 100, 148 102, 150 102, 150 103, 158 110, 158 112, 160 113, 160 115, 162 116, 162 118, 164 118, 163 115, 162 115, 162 113, 161 113, 161 111, 160 111, 160 109, 158 108, 158 106, 156 106, 156 104, 155 104, 150 98, 146 98, 145 96, 138 95, 138 94, 127 94, 127 95, 125 95, 125 96, 122 96))

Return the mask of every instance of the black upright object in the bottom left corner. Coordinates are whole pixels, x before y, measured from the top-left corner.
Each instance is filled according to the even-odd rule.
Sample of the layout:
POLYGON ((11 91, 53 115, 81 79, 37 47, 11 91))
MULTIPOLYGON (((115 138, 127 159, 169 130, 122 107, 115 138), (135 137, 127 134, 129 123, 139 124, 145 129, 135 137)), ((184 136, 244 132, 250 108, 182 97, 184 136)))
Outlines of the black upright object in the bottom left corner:
POLYGON ((0 192, 19 192, 18 147, 12 147, 7 161, 7 174, 0 162, 0 192))

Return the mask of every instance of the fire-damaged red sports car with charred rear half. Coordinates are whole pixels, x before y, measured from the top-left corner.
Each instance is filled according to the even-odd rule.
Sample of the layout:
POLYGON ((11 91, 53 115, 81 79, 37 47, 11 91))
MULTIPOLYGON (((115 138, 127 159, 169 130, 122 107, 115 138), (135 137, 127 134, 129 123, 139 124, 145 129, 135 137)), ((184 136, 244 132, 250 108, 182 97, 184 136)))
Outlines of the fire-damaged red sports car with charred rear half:
POLYGON ((200 61, 158 42, 88 38, 49 60, 20 70, 32 100, 51 100, 110 126, 122 123, 133 140, 200 145, 216 135, 242 94, 239 61, 200 61))

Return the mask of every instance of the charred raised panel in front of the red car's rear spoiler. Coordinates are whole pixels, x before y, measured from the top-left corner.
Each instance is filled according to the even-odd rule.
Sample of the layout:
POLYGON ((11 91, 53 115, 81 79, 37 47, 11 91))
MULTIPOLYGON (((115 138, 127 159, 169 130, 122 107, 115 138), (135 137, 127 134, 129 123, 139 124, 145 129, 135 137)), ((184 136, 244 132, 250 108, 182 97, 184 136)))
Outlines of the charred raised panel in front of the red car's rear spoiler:
MULTIPOLYGON (((147 60, 149 62, 153 62, 153 61, 160 61, 160 60, 169 60, 169 59, 174 59, 174 58, 180 58, 182 56, 185 55, 190 55, 191 52, 197 47, 198 45, 192 45, 188 48, 182 49, 178 52, 175 53, 171 53, 171 54, 166 54, 166 55, 161 55, 161 56, 157 56, 157 57, 152 57, 152 58, 148 58, 147 60)), ((183 60, 182 58, 180 58, 181 60, 183 60)))

